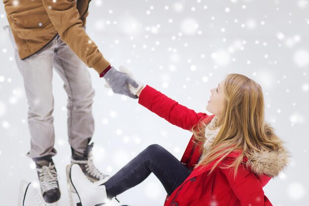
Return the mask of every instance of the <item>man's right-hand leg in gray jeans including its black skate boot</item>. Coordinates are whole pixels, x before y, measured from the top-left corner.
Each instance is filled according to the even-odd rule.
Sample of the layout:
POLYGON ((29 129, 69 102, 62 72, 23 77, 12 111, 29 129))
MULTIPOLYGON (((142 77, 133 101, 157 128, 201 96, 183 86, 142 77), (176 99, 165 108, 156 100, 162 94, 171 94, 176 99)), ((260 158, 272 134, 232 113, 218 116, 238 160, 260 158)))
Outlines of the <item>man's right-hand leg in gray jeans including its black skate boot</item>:
POLYGON ((66 45, 61 38, 57 39, 54 67, 64 81, 68 94, 68 136, 72 148, 72 163, 77 163, 92 181, 106 177, 92 162, 89 144, 94 133, 92 103, 94 89, 90 73, 85 64, 66 45))

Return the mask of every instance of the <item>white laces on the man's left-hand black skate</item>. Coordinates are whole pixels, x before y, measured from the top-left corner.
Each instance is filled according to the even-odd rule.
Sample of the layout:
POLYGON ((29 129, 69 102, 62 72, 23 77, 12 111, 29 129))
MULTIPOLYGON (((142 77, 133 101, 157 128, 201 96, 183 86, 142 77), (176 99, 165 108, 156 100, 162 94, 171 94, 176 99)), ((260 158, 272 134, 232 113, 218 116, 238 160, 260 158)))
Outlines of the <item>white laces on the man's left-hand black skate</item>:
POLYGON ((37 171, 39 172, 39 181, 42 193, 51 189, 58 189, 58 179, 55 165, 49 163, 48 167, 43 166, 42 168, 38 168, 37 171))

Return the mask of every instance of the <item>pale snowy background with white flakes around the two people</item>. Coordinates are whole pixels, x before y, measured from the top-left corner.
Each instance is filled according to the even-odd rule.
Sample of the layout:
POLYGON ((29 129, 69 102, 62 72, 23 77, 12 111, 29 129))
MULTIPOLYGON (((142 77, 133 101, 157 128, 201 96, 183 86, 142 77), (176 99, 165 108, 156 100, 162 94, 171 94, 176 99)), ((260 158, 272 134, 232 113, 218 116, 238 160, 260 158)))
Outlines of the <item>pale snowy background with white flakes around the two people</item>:
MULTIPOLYGON (((210 89, 228 73, 262 85, 266 119, 292 152, 292 162, 264 190, 274 206, 308 206, 309 5, 307 0, 92 0, 87 33, 116 68, 179 103, 206 112, 210 89)), ((0 6, 0 26, 7 25, 0 6)), ((15 206, 21 179, 36 181, 27 100, 8 32, 0 29, 0 205, 15 206)), ((93 114, 97 167, 114 174, 148 145, 181 158, 191 137, 126 97, 104 88, 89 69, 96 96, 93 114)), ((68 206, 65 166, 70 161, 63 82, 54 73, 54 158, 59 206, 68 206)), ((164 188, 151 175, 119 195, 133 206, 163 205, 164 188)))

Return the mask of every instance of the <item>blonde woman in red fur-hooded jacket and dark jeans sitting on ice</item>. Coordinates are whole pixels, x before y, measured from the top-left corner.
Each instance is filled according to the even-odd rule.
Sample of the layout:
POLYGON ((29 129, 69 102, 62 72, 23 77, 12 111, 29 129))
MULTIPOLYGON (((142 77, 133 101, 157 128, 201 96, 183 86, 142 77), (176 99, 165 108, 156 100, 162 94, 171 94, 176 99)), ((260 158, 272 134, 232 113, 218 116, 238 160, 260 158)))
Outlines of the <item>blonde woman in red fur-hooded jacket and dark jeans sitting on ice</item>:
POLYGON ((159 145, 147 147, 104 183, 104 196, 116 197, 153 172, 168 194, 164 206, 271 206, 263 187, 284 169, 289 153, 265 122, 259 84, 229 74, 211 90, 211 116, 150 86, 137 95, 140 104, 193 136, 181 161, 159 145))

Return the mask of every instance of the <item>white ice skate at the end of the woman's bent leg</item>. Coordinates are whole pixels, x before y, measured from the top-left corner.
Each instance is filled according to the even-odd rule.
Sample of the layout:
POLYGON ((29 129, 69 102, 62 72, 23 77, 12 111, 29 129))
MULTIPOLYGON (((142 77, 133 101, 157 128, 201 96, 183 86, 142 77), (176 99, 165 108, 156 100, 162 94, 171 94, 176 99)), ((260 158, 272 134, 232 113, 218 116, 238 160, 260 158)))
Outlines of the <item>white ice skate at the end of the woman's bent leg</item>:
POLYGON ((77 164, 71 166, 69 174, 68 179, 76 191, 74 194, 72 193, 73 188, 69 189, 71 206, 103 206, 110 202, 105 186, 91 182, 77 164))

